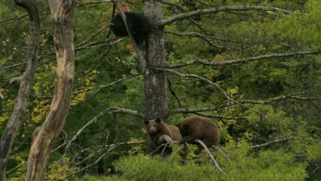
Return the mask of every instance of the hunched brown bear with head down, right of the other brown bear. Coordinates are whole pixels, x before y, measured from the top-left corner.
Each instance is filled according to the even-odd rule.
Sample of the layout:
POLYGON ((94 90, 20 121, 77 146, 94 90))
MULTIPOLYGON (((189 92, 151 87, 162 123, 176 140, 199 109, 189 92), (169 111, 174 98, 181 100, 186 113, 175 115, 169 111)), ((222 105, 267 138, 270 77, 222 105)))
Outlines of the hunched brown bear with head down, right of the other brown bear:
MULTIPOLYGON (((217 125, 209 119, 202 117, 187 117, 177 124, 182 135, 180 144, 193 143, 195 139, 203 141, 206 147, 217 146, 219 143, 219 129, 217 125)), ((202 152, 202 145, 198 146, 194 154, 202 152)))

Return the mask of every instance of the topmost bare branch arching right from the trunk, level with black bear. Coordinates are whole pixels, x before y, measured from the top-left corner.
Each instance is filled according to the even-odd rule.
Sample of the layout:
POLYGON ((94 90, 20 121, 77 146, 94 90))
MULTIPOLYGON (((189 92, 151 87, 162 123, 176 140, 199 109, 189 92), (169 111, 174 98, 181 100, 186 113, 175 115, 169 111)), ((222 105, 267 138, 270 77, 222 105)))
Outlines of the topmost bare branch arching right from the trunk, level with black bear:
POLYGON ((284 10, 281 8, 267 8, 264 6, 252 6, 252 5, 231 5, 231 6, 223 6, 219 8, 210 8, 210 9, 204 9, 204 10, 195 10, 191 12, 186 12, 182 14, 177 14, 176 16, 172 16, 169 19, 165 19, 162 21, 162 25, 168 25, 170 23, 174 23, 175 21, 179 21, 182 19, 186 19, 191 16, 200 15, 200 14, 209 14, 209 13, 217 13, 217 12, 229 12, 229 11, 250 11, 250 10, 257 10, 261 12, 283 12, 285 14, 290 14, 292 11, 284 10))

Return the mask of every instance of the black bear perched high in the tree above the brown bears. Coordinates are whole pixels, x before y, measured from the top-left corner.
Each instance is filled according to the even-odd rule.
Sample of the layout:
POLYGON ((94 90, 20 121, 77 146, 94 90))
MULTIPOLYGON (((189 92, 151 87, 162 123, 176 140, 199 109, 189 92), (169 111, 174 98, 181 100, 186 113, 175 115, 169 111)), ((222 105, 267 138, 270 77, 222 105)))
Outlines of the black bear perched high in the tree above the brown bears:
MULTIPOLYGON (((130 34, 132 34, 135 42, 141 45, 148 33, 150 32, 150 22, 148 19, 140 13, 136 12, 124 12, 126 15, 126 22, 130 34)), ((112 32, 116 36, 128 36, 128 32, 123 23, 123 19, 120 14, 116 14, 110 23, 112 32)))

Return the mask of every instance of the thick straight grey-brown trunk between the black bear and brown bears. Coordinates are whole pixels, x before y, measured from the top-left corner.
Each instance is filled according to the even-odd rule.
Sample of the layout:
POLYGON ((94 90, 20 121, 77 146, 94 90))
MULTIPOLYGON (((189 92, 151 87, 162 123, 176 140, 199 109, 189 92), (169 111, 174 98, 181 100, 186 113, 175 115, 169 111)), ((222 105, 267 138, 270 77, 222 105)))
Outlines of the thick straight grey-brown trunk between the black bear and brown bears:
MULTIPOLYGON (((169 107, 167 104, 167 77, 157 68, 166 67, 164 47, 164 27, 161 25, 163 11, 161 1, 144 1, 144 13, 150 21, 150 34, 148 36, 147 71, 144 74, 145 88, 145 119, 160 118, 167 121, 169 107)), ((154 152, 157 147, 147 139, 146 152, 154 152)), ((160 150, 161 151, 161 150, 160 150)), ((160 152, 157 152, 158 154, 160 152)))

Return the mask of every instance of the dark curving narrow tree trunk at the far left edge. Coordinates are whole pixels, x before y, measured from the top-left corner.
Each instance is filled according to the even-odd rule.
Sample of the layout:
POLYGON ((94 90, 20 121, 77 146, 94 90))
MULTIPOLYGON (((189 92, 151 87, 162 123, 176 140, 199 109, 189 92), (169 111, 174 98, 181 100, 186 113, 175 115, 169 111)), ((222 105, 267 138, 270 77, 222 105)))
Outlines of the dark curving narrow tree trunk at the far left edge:
POLYGON ((21 77, 14 78, 10 81, 19 83, 19 91, 16 97, 16 103, 14 104, 14 110, 0 139, 0 180, 3 181, 5 180, 5 168, 11 147, 21 128, 23 117, 25 116, 27 99, 32 88, 34 73, 36 72, 38 62, 40 40, 40 20, 37 2, 32 0, 14 0, 14 2, 22 8, 25 8, 29 14, 30 38, 27 49, 27 67, 25 68, 25 72, 23 72, 21 77))

